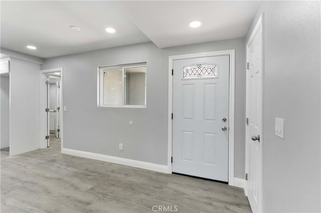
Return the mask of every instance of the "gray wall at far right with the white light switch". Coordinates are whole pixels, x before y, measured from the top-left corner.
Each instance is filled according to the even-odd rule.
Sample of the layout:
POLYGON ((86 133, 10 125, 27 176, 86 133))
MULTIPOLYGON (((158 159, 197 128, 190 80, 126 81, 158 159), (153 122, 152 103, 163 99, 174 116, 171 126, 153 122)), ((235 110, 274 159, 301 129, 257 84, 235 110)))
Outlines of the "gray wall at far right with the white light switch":
POLYGON ((263 210, 320 212, 320 2, 262 1, 249 31, 262 12, 263 210))

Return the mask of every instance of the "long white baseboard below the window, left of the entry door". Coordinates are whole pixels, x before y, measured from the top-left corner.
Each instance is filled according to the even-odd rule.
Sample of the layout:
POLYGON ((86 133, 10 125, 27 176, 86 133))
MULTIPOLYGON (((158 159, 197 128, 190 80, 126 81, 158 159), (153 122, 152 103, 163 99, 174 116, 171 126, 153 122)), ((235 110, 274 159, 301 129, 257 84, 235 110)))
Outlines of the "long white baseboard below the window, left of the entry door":
POLYGON ((86 157, 86 158, 101 160, 101 161, 105 161, 105 162, 112 162, 112 163, 128 165, 128 166, 137 167, 137 168, 148 169, 148 170, 152 170, 152 171, 169 173, 169 168, 167 165, 155 164, 155 163, 144 162, 144 161, 139 161, 139 160, 126 159, 126 158, 109 156, 109 155, 104 155, 104 154, 97 154, 97 153, 92 153, 92 152, 88 152, 88 151, 79 151, 79 150, 74 150, 74 149, 70 149, 70 148, 63 148, 61 150, 61 152, 64 154, 70 154, 70 155, 79 156, 79 157, 86 157))

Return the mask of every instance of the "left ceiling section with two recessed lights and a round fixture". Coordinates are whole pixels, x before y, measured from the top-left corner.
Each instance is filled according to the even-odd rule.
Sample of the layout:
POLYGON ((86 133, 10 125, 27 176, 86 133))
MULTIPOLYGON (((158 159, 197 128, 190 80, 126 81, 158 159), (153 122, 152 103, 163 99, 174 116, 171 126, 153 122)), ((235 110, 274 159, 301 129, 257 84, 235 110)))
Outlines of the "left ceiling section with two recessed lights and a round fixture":
POLYGON ((4 48, 47 58, 147 41, 111 1, 1 1, 4 48), (116 32, 107 33, 106 27, 116 32))

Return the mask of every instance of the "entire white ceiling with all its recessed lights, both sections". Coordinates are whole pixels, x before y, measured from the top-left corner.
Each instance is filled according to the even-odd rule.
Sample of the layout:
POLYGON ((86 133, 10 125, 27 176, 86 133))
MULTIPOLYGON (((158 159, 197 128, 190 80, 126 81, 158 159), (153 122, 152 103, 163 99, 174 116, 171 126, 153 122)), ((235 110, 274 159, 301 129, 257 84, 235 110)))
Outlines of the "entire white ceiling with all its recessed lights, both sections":
POLYGON ((244 37, 259 1, 0 3, 1 47, 48 58, 148 41, 164 48, 244 37), (202 25, 190 28, 192 20, 202 25), (72 31, 71 25, 81 30, 72 31), (116 32, 107 33, 106 27, 116 32))

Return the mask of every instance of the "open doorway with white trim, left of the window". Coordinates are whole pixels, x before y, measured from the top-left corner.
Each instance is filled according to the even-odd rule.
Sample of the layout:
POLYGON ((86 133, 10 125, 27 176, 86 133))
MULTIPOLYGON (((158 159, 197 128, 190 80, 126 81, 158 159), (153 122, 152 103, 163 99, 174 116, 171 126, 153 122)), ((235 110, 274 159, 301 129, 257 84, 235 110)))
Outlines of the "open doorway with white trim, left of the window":
POLYGON ((40 72, 40 147, 62 147, 62 68, 40 72))

